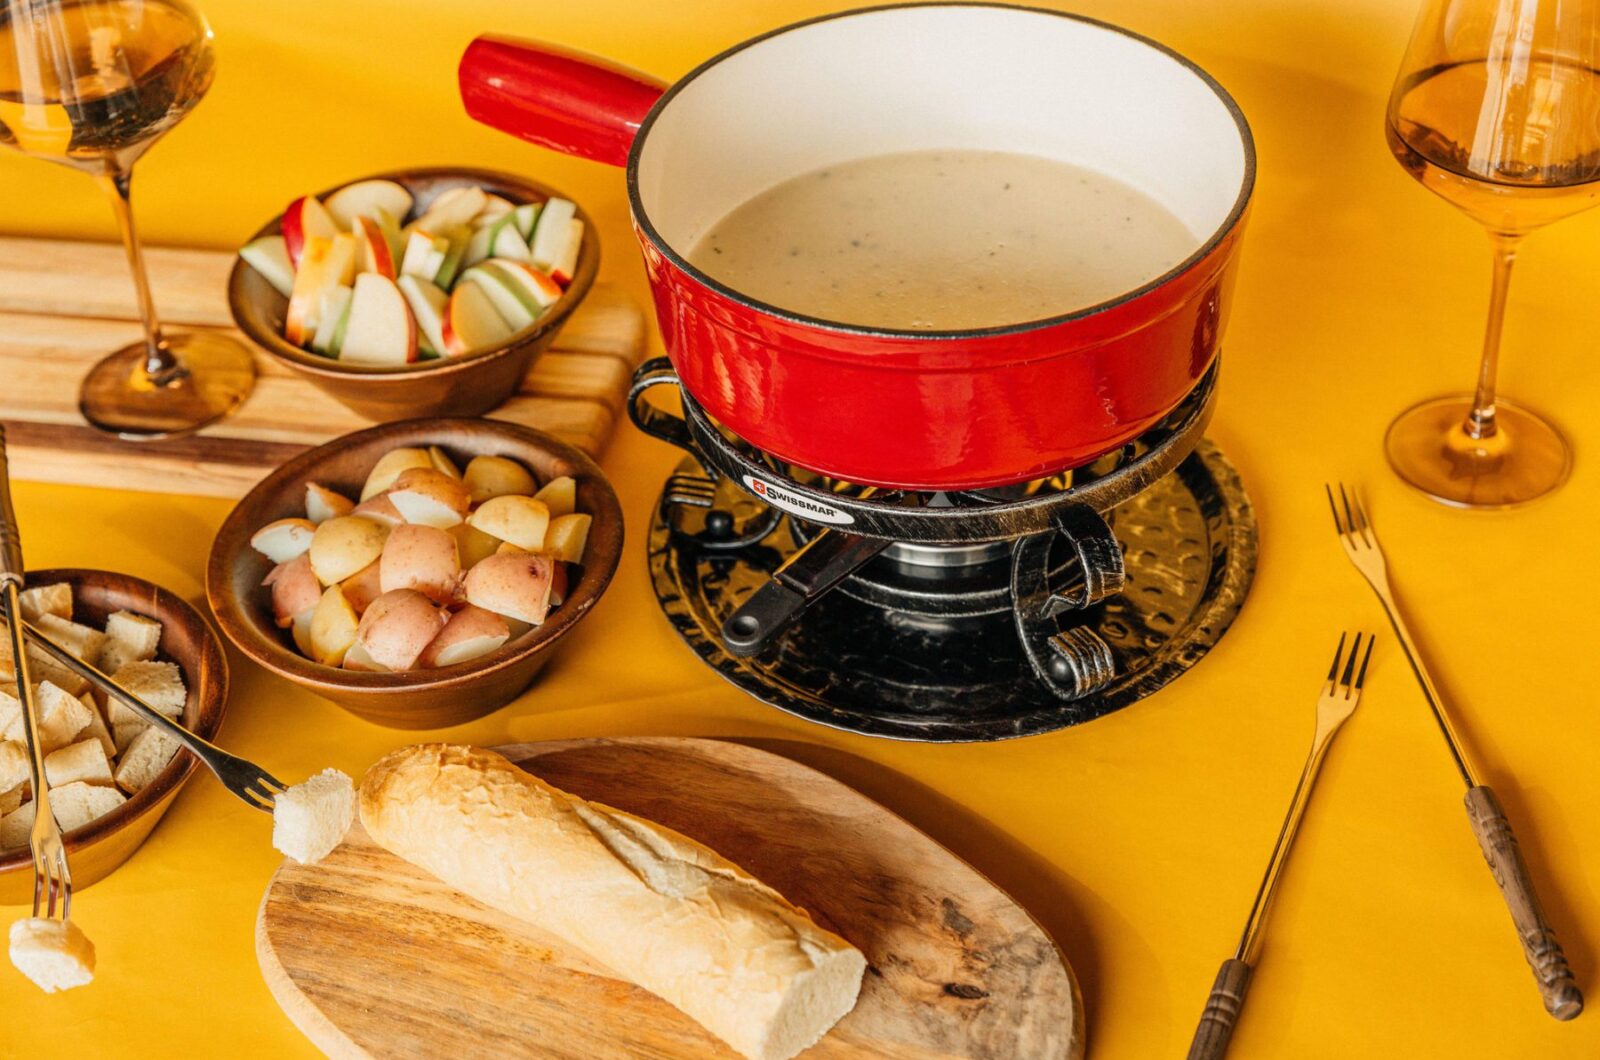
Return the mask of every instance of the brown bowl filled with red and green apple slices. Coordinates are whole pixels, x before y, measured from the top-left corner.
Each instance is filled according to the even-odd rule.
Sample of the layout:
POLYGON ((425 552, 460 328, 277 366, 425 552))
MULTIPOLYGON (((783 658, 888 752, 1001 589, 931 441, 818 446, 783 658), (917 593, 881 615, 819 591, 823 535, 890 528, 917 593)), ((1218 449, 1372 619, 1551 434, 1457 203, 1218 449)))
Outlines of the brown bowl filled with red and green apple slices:
POLYGON ((238 330, 379 423, 510 397, 594 283, 600 240, 560 192, 506 173, 379 173, 301 195, 240 250, 238 330))

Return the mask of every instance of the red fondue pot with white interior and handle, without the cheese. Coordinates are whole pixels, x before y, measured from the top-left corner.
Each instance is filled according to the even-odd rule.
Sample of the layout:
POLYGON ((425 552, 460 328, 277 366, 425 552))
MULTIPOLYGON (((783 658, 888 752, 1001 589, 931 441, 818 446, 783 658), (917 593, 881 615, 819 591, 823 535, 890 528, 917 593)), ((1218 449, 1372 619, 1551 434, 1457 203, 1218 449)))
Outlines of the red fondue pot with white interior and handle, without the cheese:
POLYGON ((1043 477, 1139 436, 1216 357, 1254 184, 1250 126, 1202 69, 1128 30, 1003 5, 869 8, 747 40, 670 88, 480 37, 461 59, 461 96, 494 128, 627 167, 683 386, 802 468, 918 490, 1043 477), (792 176, 950 147, 1115 176, 1171 210, 1194 251, 1102 304, 965 331, 808 317, 686 259, 709 226, 792 176))

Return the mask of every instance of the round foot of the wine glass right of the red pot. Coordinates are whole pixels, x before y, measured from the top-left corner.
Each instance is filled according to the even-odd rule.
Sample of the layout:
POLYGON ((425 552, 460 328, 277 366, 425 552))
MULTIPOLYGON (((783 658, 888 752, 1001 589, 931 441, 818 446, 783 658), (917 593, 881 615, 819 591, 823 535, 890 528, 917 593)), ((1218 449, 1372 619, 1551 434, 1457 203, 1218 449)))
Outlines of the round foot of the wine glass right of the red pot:
POLYGON ((1554 492, 1573 450, 1554 426, 1509 402, 1494 405, 1494 434, 1467 434, 1472 397, 1413 405, 1389 424, 1384 452, 1408 485, 1456 508, 1512 508, 1554 492))

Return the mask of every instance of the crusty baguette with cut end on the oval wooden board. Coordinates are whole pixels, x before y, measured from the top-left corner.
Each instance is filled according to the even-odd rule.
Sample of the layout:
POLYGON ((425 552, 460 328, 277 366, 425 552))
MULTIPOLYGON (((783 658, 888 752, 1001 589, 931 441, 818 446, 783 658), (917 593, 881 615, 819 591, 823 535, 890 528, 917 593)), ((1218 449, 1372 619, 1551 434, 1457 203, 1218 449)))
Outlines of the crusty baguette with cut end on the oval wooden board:
POLYGON ((750 1060, 856 1004, 866 958, 714 850, 552 788, 491 751, 405 748, 362 781, 374 842, 549 930, 750 1060))

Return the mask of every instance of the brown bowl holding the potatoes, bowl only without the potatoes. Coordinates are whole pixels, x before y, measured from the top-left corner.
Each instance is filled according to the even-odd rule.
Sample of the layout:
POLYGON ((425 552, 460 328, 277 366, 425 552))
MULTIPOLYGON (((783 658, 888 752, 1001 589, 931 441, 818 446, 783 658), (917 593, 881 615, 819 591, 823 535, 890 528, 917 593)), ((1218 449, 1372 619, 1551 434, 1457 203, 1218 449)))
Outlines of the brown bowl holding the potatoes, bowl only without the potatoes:
POLYGON ((227 639, 272 673, 310 689, 352 714, 394 729, 438 729, 483 717, 514 700, 550 660, 557 640, 605 592, 622 557, 622 509, 592 460, 557 439, 498 420, 413 420, 346 434, 288 461, 245 495, 222 520, 206 564, 206 597, 227 639), (493 655, 406 673, 357 673, 301 655, 286 629, 272 621, 261 580, 272 564, 250 548, 250 536, 272 522, 304 516, 306 484, 358 496, 378 458, 405 445, 438 445, 458 466, 472 456, 520 461, 547 482, 578 480, 578 511, 594 516, 578 580, 542 626, 514 637, 493 655))

